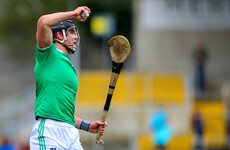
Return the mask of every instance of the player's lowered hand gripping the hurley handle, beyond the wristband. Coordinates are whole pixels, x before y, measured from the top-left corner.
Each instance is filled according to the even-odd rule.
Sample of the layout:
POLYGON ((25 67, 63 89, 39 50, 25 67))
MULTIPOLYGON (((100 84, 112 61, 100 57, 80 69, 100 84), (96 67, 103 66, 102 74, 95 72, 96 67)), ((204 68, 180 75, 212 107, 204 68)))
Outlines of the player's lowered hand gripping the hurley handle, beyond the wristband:
POLYGON ((100 126, 102 126, 102 128, 100 130, 100 134, 103 135, 105 132, 105 129, 107 127, 107 122, 101 122, 101 121, 91 122, 89 125, 88 131, 91 133, 97 133, 100 126))

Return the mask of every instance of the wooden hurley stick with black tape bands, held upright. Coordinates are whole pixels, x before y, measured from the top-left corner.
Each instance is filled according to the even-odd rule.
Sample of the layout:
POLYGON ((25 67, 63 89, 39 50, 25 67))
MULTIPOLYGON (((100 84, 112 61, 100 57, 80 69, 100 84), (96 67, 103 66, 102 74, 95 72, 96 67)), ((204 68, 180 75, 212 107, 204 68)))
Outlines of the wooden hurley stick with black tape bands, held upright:
MULTIPOLYGON (((109 46, 109 51, 112 58, 112 74, 110 78, 109 90, 108 90, 103 114, 101 116, 102 122, 105 122, 106 120, 107 113, 109 111, 110 102, 112 100, 113 92, 117 83, 117 79, 119 77, 119 74, 121 72, 125 60, 131 51, 129 41, 124 36, 121 35, 112 37, 108 41, 107 45, 109 46)), ((104 144, 104 142, 101 140, 101 134, 100 134, 101 128, 102 126, 99 127, 97 138, 96 138, 96 143, 100 145, 104 144)))

